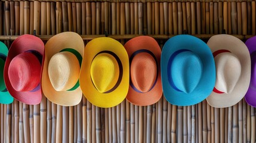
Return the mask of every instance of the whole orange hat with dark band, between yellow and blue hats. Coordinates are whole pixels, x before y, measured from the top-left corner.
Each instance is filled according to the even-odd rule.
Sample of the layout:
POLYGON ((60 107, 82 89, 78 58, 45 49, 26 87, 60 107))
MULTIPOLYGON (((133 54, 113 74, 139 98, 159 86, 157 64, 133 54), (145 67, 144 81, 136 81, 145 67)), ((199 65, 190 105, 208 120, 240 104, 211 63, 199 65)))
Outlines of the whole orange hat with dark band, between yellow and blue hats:
POLYGON ((162 97, 161 48, 155 39, 138 36, 125 43, 129 56, 130 81, 127 100, 135 105, 151 105, 162 97))

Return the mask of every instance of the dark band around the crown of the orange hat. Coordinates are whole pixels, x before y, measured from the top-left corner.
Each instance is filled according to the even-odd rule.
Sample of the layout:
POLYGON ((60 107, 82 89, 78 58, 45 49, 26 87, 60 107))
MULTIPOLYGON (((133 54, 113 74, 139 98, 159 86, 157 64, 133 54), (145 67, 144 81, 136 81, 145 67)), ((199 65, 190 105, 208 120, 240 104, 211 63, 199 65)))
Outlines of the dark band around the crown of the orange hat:
MULTIPOLYGON (((149 89, 149 91, 151 91, 151 90, 154 88, 154 86, 156 85, 156 82, 158 81, 158 71, 159 71, 159 69, 158 69, 158 61, 156 60, 156 57, 155 57, 155 55, 153 54, 153 52, 151 52, 151 51, 149 51, 149 50, 147 50, 147 49, 139 49, 139 50, 135 51, 134 53, 132 53, 131 57, 129 58, 129 67, 131 67, 131 61, 132 61, 132 59, 135 57, 135 55, 137 55, 137 54, 139 54, 139 53, 141 53, 141 52, 147 52, 147 53, 150 54, 150 55, 154 58, 154 60, 156 61, 156 69, 157 69, 157 70, 156 70, 156 79, 155 79, 155 82, 153 83, 152 87, 149 89)), ((131 70, 131 69, 130 69, 130 70, 131 70)), ((131 74, 131 72, 130 72, 130 74, 131 74)), ((130 76, 131 76, 131 75, 130 75, 130 76)), ((133 84, 132 81, 131 81, 131 78, 129 78, 129 83, 130 83, 131 88, 134 89, 134 91, 137 91, 137 92, 139 92, 139 93, 144 93, 144 92, 139 91, 137 88, 135 88, 134 84, 133 84)), ((147 92, 149 92, 149 91, 147 91, 147 92)))

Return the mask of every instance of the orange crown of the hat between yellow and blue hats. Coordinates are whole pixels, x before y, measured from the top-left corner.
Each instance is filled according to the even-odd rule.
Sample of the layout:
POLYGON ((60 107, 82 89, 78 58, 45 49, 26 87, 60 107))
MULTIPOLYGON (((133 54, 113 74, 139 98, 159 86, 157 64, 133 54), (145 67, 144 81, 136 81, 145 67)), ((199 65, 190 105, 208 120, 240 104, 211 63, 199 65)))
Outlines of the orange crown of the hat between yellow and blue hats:
POLYGON ((156 61, 147 52, 141 52, 132 58, 131 81, 140 92, 148 92, 152 89, 157 75, 156 61))

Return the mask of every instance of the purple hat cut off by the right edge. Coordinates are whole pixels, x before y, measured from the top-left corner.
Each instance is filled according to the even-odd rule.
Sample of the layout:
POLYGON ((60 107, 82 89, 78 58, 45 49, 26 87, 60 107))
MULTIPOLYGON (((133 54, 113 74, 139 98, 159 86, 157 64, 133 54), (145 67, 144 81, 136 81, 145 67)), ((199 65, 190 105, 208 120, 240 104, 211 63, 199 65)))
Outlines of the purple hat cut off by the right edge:
POLYGON ((251 82, 245 94, 245 101, 249 105, 256 107, 256 36, 249 38, 245 45, 251 55, 251 82))

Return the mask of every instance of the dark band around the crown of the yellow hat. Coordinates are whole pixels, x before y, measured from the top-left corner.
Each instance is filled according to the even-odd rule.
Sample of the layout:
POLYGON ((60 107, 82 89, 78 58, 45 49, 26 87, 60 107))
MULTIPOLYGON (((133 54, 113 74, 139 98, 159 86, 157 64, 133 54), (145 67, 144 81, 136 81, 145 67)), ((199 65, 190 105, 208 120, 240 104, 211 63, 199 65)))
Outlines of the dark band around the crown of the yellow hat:
MULTIPOLYGON (((112 89, 110 89, 109 91, 103 92, 103 94, 107 94, 107 93, 110 93, 110 92, 112 92, 112 91, 115 91, 115 89, 118 88, 118 86, 120 85, 121 80, 122 80, 122 76, 123 76, 123 66, 122 66, 122 62, 121 62, 121 60, 119 59, 118 55, 116 55, 114 52, 112 52, 112 51, 101 51, 101 52, 98 52, 98 54, 102 54, 102 53, 107 53, 107 54, 112 55, 112 56, 116 59, 116 61, 118 62, 118 67, 119 67, 119 77, 118 77, 118 81, 116 82, 115 86, 113 86, 112 89)), ((96 55, 94 56, 94 58, 95 58, 98 54, 96 54, 96 55)), ((94 58, 93 58, 92 60, 94 60, 94 58)), ((91 82, 92 82, 92 79, 91 79, 91 82)), ((93 82, 92 82, 92 83, 93 83, 93 82)), ((94 84, 93 84, 93 85, 94 85, 94 84)), ((95 85, 94 85, 94 88, 96 88, 95 85)), ((96 89, 97 89, 97 88, 96 88, 96 89)))

